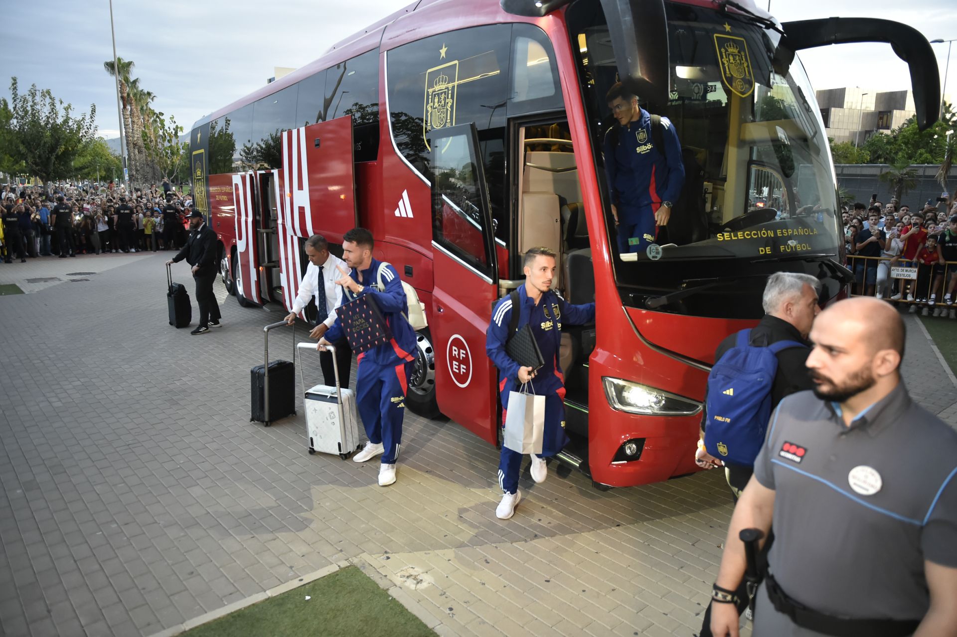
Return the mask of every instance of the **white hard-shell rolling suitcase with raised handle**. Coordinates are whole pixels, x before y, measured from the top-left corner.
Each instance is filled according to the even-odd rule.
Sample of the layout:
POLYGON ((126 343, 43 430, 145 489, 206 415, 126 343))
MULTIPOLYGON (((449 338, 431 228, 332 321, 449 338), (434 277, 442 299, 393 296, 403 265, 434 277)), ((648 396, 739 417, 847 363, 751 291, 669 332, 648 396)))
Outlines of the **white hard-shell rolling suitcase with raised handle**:
MULTIPOLYGON (((316 351, 316 344, 300 342, 297 347, 316 351)), ((335 354, 335 347, 327 348, 335 354)), ((356 395, 352 389, 343 389, 339 383, 339 363, 332 357, 336 386, 317 384, 305 387, 300 360, 302 405, 305 411, 306 443, 309 453, 338 453, 345 460, 359 446, 359 417, 356 413, 356 395)))

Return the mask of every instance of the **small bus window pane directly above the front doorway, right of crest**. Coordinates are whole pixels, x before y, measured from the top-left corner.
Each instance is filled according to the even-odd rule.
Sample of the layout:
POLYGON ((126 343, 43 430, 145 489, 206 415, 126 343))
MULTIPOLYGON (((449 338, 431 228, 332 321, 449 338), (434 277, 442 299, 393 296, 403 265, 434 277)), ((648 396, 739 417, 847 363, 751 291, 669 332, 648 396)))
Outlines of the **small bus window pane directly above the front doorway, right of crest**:
POLYGON ((563 108, 555 55, 545 33, 530 24, 512 27, 512 97, 509 115, 563 108))

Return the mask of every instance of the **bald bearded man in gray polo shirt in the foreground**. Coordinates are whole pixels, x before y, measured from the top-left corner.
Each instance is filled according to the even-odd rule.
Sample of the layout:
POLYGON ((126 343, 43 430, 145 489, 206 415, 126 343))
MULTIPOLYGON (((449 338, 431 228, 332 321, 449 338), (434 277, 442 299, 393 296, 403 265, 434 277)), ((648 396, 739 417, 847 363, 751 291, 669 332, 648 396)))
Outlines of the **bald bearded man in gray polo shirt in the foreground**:
POLYGON ((731 518, 712 632, 738 635, 739 533, 773 522, 755 635, 957 635, 957 432, 901 383, 901 317, 843 300, 810 339, 814 388, 771 416, 731 518))

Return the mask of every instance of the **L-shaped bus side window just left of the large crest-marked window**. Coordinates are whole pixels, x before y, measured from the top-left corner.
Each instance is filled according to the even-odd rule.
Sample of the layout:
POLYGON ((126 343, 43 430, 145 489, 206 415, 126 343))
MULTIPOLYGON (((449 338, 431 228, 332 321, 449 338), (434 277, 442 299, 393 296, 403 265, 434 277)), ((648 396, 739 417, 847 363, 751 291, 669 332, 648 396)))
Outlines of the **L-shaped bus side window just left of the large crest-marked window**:
POLYGON ((379 154, 379 50, 346 60, 325 72, 325 120, 352 116, 356 162, 379 154))

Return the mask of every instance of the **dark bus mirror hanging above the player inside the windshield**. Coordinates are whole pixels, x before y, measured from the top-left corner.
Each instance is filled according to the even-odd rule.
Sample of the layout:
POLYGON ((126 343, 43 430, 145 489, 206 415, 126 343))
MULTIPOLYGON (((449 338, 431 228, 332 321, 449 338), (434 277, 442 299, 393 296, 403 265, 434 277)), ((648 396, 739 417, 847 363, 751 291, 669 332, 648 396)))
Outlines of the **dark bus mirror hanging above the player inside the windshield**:
POLYGON ((668 21, 664 0, 601 0, 608 21, 618 78, 653 108, 668 103, 668 21))

